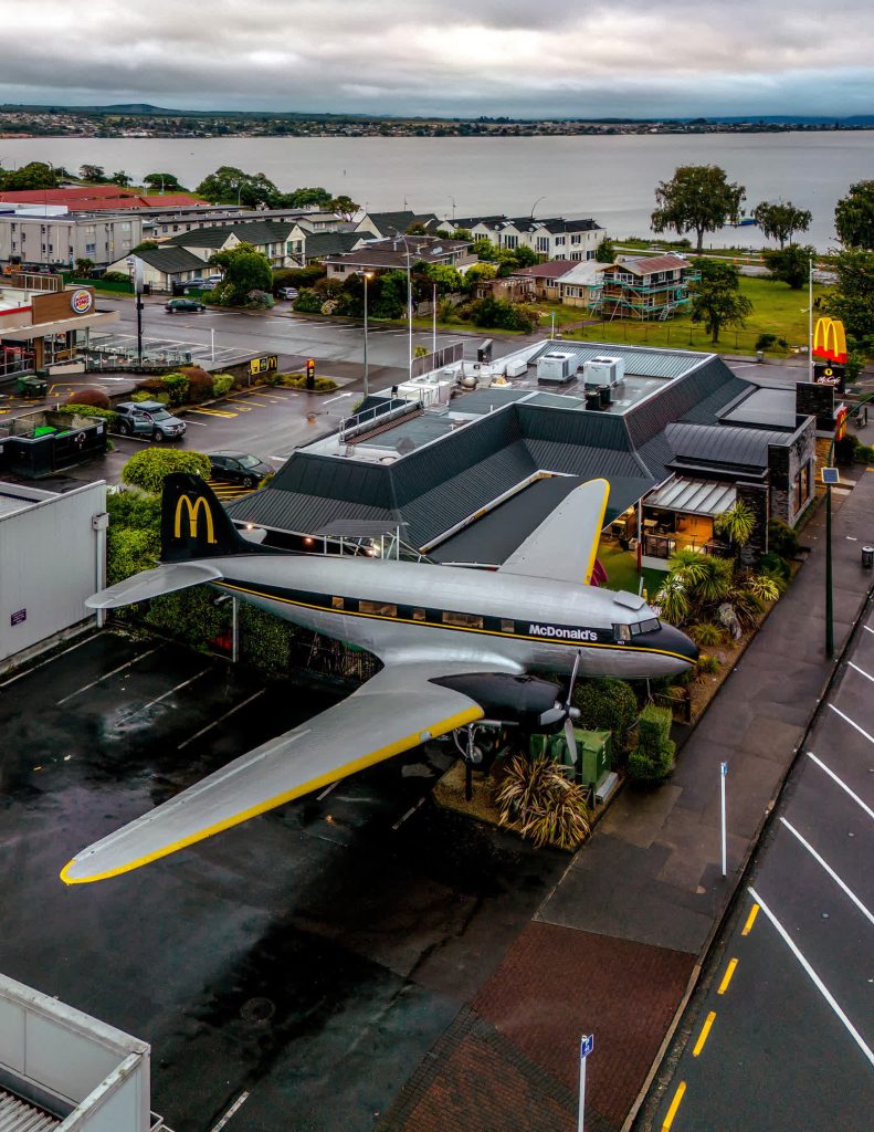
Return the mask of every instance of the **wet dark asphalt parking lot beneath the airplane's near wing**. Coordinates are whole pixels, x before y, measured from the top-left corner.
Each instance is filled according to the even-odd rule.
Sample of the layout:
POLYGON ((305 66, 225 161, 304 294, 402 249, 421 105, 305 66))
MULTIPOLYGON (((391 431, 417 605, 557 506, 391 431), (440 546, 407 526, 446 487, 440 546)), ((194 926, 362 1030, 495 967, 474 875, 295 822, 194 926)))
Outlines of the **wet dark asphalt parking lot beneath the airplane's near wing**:
POLYGON ((432 746, 136 873, 85 844, 336 693, 98 634, 0 684, 0 970, 152 1044, 177 1132, 374 1127, 567 864, 436 809, 432 746), (203 734, 202 734, 203 732, 203 734))

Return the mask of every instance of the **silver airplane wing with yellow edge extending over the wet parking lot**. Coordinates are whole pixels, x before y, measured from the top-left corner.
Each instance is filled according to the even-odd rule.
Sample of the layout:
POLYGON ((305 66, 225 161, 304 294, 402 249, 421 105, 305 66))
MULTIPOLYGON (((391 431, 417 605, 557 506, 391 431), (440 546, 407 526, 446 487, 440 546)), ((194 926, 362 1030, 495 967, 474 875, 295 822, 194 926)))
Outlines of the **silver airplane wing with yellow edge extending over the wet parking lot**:
POLYGON ((431 683, 459 670, 452 661, 384 668, 348 700, 83 849, 61 880, 87 884, 139 868, 481 719, 470 696, 431 683))

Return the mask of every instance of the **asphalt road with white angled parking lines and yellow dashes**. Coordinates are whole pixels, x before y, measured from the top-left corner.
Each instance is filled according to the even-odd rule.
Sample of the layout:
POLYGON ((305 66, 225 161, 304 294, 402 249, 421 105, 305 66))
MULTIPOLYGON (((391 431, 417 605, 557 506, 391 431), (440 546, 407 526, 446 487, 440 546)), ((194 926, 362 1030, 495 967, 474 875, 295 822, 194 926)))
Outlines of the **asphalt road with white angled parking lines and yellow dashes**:
POLYGON ((869 603, 668 1054, 650 1127, 871 1129, 872 854, 869 603))

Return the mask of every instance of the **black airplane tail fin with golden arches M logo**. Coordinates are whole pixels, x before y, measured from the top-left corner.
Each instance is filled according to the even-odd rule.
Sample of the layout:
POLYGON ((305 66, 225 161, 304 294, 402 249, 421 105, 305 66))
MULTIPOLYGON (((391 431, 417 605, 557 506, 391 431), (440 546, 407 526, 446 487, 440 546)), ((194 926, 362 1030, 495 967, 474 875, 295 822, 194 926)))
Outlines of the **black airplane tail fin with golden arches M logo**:
POLYGON ((265 550, 245 539, 199 475, 173 472, 164 480, 161 503, 161 561, 226 558, 265 550))

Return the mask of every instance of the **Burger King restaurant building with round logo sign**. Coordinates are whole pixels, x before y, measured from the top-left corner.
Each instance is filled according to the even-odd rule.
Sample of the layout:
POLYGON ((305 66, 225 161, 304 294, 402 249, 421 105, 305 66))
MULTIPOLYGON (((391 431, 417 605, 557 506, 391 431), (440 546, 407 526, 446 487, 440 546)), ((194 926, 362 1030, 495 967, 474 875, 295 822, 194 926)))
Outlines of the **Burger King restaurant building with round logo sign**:
POLYGON ((0 380, 85 368, 92 329, 118 323, 98 310, 94 288, 65 286, 59 276, 0 278, 0 380))

